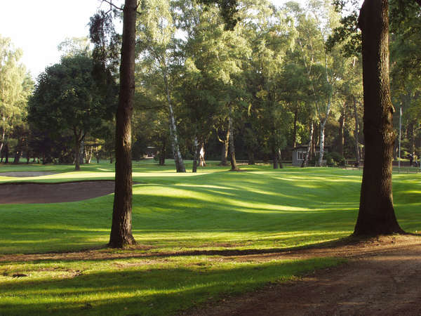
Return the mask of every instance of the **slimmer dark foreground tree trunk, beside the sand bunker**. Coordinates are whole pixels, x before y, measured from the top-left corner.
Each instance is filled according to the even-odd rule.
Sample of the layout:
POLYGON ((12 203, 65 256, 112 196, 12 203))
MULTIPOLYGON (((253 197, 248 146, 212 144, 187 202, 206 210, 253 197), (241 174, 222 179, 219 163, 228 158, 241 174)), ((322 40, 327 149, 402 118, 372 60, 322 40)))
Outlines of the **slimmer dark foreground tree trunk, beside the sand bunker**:
POLYGON ((116 179, 109 246, 135 244, 132 234, 131 117, 135 95, 137 0, 126 0, 123 11, 119 107, 116 113, 116 179))

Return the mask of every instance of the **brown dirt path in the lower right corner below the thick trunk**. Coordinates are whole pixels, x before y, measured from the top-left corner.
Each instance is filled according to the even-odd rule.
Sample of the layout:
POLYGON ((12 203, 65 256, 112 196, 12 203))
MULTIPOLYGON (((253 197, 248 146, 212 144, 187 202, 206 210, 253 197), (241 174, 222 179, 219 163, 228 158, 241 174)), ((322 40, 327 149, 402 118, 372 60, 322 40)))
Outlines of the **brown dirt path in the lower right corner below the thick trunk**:
POLYGON ((421 239, 390 239, 373 239, 360 249, 314 249, 316 256, 342 254, 349 261, 187 315, 421 315, 421 239))

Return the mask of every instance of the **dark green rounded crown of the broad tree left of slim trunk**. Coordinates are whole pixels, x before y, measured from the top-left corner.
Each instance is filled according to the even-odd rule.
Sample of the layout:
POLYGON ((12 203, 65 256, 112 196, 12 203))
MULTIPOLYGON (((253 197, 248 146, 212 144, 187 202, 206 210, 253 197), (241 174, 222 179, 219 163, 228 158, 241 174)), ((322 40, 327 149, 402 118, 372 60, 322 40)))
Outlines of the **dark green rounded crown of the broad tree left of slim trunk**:
POLYGON ((65 56, 39 75, 29 100, 28 121, 39 136, 44 133, 54 140, 67 133, 80 143, 87 133, 101 129, 103 119, 109 119, 115 98, 113 82, 104 86, 93 77, 92 58, 65 56))

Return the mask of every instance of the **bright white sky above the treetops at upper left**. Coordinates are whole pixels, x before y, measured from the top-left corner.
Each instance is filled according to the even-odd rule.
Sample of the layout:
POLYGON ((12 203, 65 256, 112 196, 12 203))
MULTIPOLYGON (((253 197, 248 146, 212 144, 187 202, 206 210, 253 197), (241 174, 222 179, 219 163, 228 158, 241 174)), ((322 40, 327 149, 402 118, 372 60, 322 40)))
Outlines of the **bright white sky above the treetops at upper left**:
MULTIPOLYGON (((273 1, 277 6, 286 2, 273 1)), ((22 62, 36 79, 46 66, 60 61, 58 44, 66 38, 88 35, 89 18, 101 0, 0 0, 0 4, 0 34, 22 49, 22 62)), ((102 8, 107 5, 102 4, 102 8)))

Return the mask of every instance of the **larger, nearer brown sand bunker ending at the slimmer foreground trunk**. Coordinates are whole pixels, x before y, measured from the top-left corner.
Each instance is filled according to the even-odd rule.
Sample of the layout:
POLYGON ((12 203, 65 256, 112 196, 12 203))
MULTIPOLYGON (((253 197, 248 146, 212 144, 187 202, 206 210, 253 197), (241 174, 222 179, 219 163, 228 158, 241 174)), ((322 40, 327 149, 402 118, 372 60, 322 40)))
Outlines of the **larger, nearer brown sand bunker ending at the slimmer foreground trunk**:
POLYGON ((75 202, 114 192, 114 181, 0 184, 0 204, 75 202))

